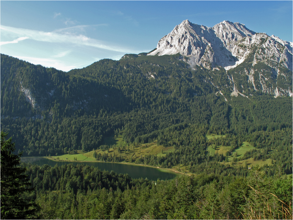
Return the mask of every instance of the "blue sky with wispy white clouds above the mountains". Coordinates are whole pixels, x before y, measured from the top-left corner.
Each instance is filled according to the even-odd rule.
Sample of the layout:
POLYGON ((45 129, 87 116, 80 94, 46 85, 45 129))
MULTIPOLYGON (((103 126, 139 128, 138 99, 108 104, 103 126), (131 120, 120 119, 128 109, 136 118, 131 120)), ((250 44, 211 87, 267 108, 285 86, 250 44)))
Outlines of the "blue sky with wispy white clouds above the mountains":
POLYGON ((0 52, 69 71, 149 52, 183 20, 224 20, 292 42, 293 1, 0 1, 0 52))

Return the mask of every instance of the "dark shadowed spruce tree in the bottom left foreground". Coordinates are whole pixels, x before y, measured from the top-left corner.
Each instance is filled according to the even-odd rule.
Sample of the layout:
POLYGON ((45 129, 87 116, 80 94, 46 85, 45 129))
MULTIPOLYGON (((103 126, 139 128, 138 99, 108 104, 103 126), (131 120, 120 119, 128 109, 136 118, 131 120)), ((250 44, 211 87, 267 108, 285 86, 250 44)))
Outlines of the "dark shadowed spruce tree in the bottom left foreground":
POLYGON ((33 189, 24 174, 26 169, 19 166, 22 152, 13 154, 15 143, 6 137, 7 133, 1 131, 1 219, 34 219, 38 205, 25 198, 33 189))

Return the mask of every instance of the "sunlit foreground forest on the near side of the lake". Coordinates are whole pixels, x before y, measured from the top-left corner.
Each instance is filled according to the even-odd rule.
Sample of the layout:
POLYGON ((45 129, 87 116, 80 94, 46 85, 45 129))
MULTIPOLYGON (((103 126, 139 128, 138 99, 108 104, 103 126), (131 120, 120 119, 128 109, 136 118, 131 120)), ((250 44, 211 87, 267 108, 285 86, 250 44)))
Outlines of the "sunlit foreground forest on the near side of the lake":
POLYGON ((28 165, 27 174, 40 219, 292 219, 292 175, 266 177, 258 166, 248 177, 156 182, 70 164, 28 165))

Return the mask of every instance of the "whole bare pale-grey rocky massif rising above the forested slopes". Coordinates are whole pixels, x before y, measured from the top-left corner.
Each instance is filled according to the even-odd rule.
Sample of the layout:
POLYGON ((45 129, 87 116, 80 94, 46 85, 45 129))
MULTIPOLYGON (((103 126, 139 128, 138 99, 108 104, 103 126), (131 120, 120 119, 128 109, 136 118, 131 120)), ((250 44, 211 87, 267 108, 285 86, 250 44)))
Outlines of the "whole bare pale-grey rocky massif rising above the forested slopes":
POLYGON ((230 80, 231 95, 242 94, 240 90, 251 94, 249 89, 245 92, 237 88, 243 88, 243 84, 235 83, 246 76, 250 89, 276 97, 292 96, 292 43, 274 35, 256 33, 241 23, 230 21, 209 28, 185 20, 161 38, 156 50, 148 55, 177 53, 188 57, 191 65, 210 70, 223 67, 230 80))

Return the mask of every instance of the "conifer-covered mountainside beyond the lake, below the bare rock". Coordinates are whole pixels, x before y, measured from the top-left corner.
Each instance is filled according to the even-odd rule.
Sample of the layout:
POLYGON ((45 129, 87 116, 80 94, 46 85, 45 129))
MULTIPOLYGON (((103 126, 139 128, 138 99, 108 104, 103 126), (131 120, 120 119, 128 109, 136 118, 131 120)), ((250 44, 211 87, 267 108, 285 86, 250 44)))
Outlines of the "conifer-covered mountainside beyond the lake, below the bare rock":
POLYGON ((230 96, 222 67, 190 68, 182 59, 125 55, 62 72, 1 54, 1 129, 23 155, 106 150, 105 139, 121 133, 130 148, 154 141, 174 148, 144 155, 142 164, 246 176, 251 159, 266 161, 268 175, 280 167, 291 174, 292 97, 230 96), (252 149, 235 156, 246 142, 252 149))

